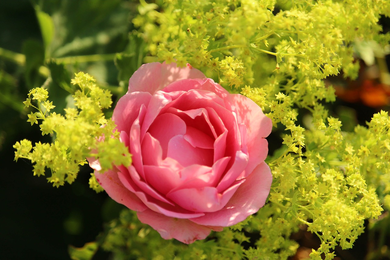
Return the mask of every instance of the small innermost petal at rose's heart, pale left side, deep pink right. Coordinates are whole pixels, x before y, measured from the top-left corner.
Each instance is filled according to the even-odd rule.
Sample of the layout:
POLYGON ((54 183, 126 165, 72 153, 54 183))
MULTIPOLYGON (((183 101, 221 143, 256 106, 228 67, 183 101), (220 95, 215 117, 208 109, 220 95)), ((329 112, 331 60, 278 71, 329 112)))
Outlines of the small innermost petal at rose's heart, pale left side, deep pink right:
POLYGON ((213 149, 193 147, 184 135, 176 135, 168 143, 167 157, 177 160, 183 167, 192 164, 213 165, 213 149))

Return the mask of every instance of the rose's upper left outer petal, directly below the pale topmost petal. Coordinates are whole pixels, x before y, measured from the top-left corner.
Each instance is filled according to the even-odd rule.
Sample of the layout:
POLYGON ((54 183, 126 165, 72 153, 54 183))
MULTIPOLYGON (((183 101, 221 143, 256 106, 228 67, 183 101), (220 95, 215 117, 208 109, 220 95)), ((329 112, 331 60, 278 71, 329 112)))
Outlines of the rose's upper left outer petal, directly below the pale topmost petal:
POLYGON ((139 116, 140 108, 142 105, 148 106, 152 95, 146 92, 135 92, 131 94, 125 94, 115 105, 114 112, 112 114, 112 120, 117 125, 118 132, 129 132, 131 125, 133 125, 135 119, 139 116))

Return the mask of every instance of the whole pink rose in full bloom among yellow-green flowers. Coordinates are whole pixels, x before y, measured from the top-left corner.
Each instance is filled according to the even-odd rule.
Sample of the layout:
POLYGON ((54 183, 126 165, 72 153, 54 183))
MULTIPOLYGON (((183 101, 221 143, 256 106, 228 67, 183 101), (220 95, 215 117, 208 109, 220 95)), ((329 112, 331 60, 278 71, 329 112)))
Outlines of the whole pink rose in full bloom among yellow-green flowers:
POLYGON ((133 155, 130 167, 99 173, 108 195, 186 244, 222 231, 264 206, 272 182, 264 162, 271 119, 189 64, 142 65, 112 119, 133 155))

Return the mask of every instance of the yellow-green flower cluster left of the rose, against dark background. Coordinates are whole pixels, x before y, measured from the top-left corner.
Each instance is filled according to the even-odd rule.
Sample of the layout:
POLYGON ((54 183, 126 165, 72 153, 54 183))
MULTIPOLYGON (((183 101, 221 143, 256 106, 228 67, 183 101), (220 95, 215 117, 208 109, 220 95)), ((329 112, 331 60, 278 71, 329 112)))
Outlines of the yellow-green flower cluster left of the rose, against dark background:
MULTIPOLYGON (((72 183, 78 174, 79 165, 87 163, 86 158, 98 158, 102 171, 112 168, 113 164, 131 164, 128 149, 114 131, 114 122, 107 120, 102 112, 102 109, 111 107, 111 94, 97 87, 94 81, 88 74, 76 74, 72 83, 80 89, 73 95, 75 107, 65 109, 64 116, 50 113, 55 106, 48 100, 48 91, 43 87, 32 89, 23 102, 25 107, 37 110, 28 115, 27 121, 31 125, 40 122, 42 135, 55 135, 55 141, 43 144, 38 142, 34 147, 28 140, 17 142, 14 145, 15 160, 31 160, 34 175, 46 175, 50 171, 51 175, 47 179, 53 186, 72 183), (109 140, 100 142, 99 138, 109 140)), ((90 187, 102 191, 94 175, 90 178, 90 187)))

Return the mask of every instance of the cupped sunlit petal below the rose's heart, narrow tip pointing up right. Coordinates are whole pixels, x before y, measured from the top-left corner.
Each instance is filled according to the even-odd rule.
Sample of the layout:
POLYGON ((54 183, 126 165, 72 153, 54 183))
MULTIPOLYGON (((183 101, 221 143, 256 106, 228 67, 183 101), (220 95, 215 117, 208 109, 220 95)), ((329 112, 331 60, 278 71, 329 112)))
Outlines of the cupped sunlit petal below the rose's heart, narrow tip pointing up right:
POLYGON ((245 179, 235 182, 222 194, 215 187, 180 189, 167 194, 177 205, 195 212, 215 212, 223 208, 245 179))

